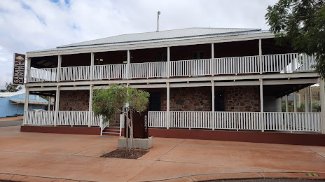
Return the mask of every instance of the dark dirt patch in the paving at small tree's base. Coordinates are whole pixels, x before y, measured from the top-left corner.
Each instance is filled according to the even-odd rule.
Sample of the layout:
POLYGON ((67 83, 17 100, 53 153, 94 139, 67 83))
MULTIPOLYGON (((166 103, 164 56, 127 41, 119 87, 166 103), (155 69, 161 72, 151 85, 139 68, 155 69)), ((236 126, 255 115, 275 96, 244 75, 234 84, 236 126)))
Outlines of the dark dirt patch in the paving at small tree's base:
POLYGON ((123 159, 137 159, 142 155, 145 155, 149 151, 134 150, 133 152, 127 152, 125 149, 116 149, 110 153, 102 155, 102 158, 123 158, 123 159))

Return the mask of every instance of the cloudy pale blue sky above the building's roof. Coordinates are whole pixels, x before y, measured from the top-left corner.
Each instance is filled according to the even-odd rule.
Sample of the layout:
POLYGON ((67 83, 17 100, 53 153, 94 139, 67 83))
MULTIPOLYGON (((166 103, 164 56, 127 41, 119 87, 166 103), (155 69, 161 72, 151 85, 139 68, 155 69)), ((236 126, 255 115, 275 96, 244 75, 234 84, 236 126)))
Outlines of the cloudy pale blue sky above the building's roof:
POLYGON ((277 0, 0 0, 0 88, 11 81, 13 53, 95 38, 188 27, 268 29, 277 0))

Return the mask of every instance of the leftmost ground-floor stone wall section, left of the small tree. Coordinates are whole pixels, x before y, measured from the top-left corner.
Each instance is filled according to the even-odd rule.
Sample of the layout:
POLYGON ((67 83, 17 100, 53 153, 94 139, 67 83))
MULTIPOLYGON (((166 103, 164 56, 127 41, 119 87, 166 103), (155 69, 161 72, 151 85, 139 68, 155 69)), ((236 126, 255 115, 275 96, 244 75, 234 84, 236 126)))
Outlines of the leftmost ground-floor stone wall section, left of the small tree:
POLYGON ((89 90, 60 91, 60 111, 88 111, 89 90))

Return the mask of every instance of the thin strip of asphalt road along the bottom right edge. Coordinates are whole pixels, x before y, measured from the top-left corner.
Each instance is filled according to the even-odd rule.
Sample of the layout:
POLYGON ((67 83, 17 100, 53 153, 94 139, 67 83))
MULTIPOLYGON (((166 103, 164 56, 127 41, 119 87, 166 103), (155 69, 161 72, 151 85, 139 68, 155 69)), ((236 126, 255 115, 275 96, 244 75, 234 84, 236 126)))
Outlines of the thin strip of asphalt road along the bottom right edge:
POLYGON ((317 179, 227 179, 227 180, 216 180, 210 182, 321 182, 325 180, 317 180, 317 179))

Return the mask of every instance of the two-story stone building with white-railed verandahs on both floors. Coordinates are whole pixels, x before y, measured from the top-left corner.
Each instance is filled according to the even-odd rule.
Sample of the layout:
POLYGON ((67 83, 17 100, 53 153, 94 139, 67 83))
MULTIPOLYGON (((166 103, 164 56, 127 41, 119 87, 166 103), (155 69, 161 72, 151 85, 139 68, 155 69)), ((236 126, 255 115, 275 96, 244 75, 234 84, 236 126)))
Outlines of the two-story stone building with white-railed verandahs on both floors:
POLYGON ((92 113, 92 90, 125 84, 150 92, 154 136, 324 133, 325 110, 281 112, 282 97, 315 83, 325 105, 313 64, 261 29, 174 29, 27 52, 26 92, 55 97, 55 111, 25 111, 22 131, 105 133, 92 113))

